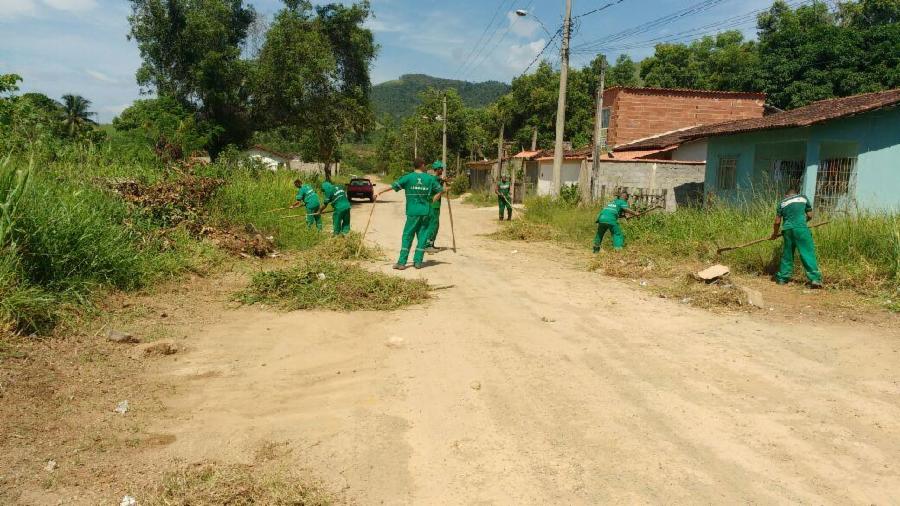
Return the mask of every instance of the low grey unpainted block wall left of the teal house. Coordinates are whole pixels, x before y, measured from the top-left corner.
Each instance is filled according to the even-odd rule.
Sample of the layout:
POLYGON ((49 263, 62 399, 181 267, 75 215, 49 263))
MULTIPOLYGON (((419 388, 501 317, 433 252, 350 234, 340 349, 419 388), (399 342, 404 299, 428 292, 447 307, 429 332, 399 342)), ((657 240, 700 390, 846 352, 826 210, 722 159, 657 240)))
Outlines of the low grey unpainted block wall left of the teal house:
POLYGON ((703 201, 706 164, 669 160, 602 160, 593 171, 593 196, 608 200, 615 188, 666 190, 666 210, 703 201))

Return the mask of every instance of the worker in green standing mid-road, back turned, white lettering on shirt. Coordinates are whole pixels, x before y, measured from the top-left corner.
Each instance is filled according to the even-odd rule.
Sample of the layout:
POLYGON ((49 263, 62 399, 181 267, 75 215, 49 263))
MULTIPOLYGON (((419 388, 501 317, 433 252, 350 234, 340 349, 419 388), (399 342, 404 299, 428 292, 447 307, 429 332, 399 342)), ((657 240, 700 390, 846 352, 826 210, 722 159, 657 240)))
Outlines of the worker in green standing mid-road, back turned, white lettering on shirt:
POLYGON ((444 189, 438 183, 437 178, 425 173, 425 162, 416 160, 415 170, 394 181, 389 188, 378 192, 375 197, 394 190, 406 192, 406 225, 403 227, 403 239, 400 245, 400 257, 397 259, 394 269, 402 271, 406 269, 406 261, 409 259, 409 250, 413 239, 417 239, 416 253, 413 255, 413 266, 422 268, 425 260, 425 243, 428 241, 426 232, 431 218, 431 204, 440 200, 444 189))

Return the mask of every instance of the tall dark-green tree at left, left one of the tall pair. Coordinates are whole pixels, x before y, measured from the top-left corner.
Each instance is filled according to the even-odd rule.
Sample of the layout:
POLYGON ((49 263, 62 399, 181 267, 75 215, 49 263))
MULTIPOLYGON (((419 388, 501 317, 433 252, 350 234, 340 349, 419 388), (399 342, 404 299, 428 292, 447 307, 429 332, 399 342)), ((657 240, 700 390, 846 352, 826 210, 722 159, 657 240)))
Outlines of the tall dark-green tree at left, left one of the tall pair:
POLYGON ((221 126, 210 145, 215 156, 252 132, 247 114, 250 64, 241 45, 256 18, 243 0, 131 0, 129 39, 142 64, 137 82, 145 93, 169 96, 221 126))

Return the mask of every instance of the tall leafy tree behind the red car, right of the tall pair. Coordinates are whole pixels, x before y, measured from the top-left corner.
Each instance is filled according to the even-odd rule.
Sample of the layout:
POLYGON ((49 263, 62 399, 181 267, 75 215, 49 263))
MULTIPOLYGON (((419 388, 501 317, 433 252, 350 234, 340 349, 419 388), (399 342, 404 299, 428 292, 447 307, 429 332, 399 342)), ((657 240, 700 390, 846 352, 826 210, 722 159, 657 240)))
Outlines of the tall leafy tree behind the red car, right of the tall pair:
POLYGON ((260 51, 257 119, 305 132, 303 144, 325 163, 327 179, 343 138, 372 124, 369 68, 377 48, 364 27, 370 14, 367 1, 314 13, 306 0, 286 0, 260 51))

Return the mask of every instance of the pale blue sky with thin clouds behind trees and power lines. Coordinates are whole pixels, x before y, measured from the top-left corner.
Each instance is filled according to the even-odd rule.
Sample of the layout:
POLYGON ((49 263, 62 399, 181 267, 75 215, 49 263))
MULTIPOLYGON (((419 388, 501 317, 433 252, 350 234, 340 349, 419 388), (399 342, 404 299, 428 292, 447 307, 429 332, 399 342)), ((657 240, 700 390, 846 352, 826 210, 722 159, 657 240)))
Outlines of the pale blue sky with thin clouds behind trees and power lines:
MULTIPOLYGON (((578 15, 611 1, 615 0, 574 0, 573 12, 578 15)), ((601 13, 581 18, 573 47, 700 1, 622 0, 601 13)), ((608 45, 607 54, 614 58, 624 50, 638 59, 652 52, 654 39, 771 4, 771 0, 716 2, 703 12, 608 45)), ((267 17, 281 6, 280 0, 248 3, 267 17)), ((522 73, 547 44, 549 37, 535 20, 555 32, 562 22, 564 4, 563 0, 373 0, 375 17, 369 26, 381 45, 373 81, 424 73, 508 82, 522 73), (516 16, 516 9, 528 9, 531 15, 516 16), (495 13, 494 23, 488 28, 495 13), (476 48, 479 40, 483 50, 476 48)), ((129 12, 125 0, 0 0, 0 73, 22 75, 26 91, 40 91, 54 98, 65 93, 83 95, 93 101, 99 118, 109 121, 139 97, 134 73, 140 58, 135 44, 125 37, 129 12)), ((737 27, 752 36, 752 23, 737 27)), ((709 29, 688 32, 683 39, 705 31, 709 29)), ((558 61, 558 47, 547 54, 558 61)), ((576 51, 573 64, 584 65, 591 55, 591 51, 576 51)))

